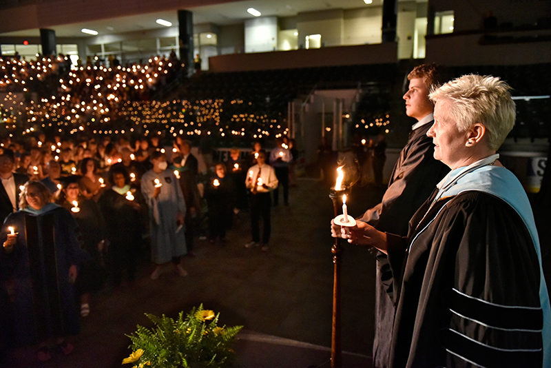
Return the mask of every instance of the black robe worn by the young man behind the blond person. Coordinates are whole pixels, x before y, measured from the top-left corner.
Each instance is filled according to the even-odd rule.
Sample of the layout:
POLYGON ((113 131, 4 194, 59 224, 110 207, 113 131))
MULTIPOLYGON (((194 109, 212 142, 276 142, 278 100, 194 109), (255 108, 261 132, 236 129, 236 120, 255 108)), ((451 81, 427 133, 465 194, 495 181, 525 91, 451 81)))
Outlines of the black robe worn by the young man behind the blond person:
MULTIPOLYGON (((388 188, 381 203, 368 209, 358 218, 382 232, 400 236, 408 234, 408 222, 426 201, 437 183, 450 171, 449 167, 434 159, 433 139, 426 132, 433 125, 430 121, 412 130, 408 142, 400 152, 388 188)), ((377 280, 392 279, 386 256, 377 253, 377 280)), ((375 284, 375 340, 373 363, 376 368, 388 366, 388 352, 395 308, 386 295, 381 282, 375 284)))

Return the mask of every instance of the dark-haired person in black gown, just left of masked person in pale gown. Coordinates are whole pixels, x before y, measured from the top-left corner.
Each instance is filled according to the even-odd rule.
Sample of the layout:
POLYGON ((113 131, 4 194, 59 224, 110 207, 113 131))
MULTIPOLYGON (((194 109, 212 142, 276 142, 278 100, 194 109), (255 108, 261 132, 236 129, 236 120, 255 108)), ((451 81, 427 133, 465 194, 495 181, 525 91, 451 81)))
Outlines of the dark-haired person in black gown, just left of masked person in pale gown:
POLYGON ((125 167, 114 167, 109 175, 111 188, 101 194, 98 205, 107 230, 107 258, 112 284, 118 287, 125 271, 128 283, 136 280, 147 205, 141 192, 130 185, 125 167))

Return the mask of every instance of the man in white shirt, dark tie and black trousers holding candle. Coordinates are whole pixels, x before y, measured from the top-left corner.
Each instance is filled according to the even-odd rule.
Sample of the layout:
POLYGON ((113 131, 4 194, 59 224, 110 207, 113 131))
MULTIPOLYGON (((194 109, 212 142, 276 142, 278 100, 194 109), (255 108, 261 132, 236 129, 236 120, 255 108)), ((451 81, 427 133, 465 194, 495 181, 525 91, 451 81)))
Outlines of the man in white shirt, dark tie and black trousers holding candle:
POLYGON ((271 223, 270 209, 271 196, 270 192, 275 187, 278 187, 278 178, 275 176, 275 171, 266 163, 266 151, 258 152, 257 164, 252 166, 247 173, 245 186, 251 192, 251 232, 253 241, 245 245, 246 248, 256 247, 260 243, 260 217, 264 224, 264 232, 262 232, 262 250, 267 252, 268 242, 270 240, 271 223))

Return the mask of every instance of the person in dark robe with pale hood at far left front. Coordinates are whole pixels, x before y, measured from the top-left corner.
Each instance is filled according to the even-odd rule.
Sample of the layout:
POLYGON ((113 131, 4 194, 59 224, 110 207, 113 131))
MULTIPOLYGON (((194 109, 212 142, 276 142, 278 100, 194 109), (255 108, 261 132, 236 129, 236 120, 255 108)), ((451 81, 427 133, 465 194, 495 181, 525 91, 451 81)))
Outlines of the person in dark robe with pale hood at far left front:
POLYGON ((64 354, 73 349, 66 337, 79 332, 74 282, 85 259, 74 218, 51 200, 45 185, 28 181, 19 211, 0 231, 0 285, 10 296, 9 332, 17 343, 39 343, 39 360, 52 357, 52 345, 64 354))

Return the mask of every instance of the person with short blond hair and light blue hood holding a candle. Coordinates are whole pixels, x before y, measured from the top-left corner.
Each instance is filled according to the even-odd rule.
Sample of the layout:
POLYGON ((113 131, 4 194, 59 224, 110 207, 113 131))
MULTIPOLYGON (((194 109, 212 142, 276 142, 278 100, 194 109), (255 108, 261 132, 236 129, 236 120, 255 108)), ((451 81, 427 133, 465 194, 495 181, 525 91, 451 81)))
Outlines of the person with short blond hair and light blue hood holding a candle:
POLYGON ((551 309, 530 203, 497 159, 514 125, 509 86, 467 75, 430 94, 427 134, 452 170, 408 236, 357 221, 336 232, 388 256, 392 367, 551 367, 551 309))

